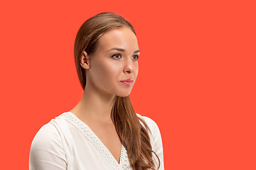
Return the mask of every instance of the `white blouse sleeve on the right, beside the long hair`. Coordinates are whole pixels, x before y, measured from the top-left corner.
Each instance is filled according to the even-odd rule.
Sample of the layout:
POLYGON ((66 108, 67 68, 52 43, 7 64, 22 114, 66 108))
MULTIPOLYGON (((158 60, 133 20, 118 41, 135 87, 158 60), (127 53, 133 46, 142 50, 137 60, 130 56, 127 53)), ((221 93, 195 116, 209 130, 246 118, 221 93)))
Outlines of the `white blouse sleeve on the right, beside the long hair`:
MULTIPOLYGON (((142 117, 146 121, 146 124, 149 126, 149 129, 151 130, 151 134, 149 133, 149 136, 151 136, 151 147, 153 151, 156 152, 156 155, 160 159, 159 170, 164 170, 164 151, 163 151, 163 143, 161 140, 161 133, 160 133, 159 127, 151 118, 147 118, 146 116, 142 116, 142 117)), ((157 162, 156 157, 155 159, 157 162)), ((158 164, 156 164, 156 167, 157 166, 158 164)))

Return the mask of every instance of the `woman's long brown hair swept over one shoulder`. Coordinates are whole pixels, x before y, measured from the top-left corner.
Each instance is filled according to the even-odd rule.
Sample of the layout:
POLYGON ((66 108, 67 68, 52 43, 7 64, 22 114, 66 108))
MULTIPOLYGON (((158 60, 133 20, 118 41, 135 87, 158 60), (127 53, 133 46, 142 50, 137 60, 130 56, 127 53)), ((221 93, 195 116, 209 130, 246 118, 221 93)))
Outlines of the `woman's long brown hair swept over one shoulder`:
MULTIPOLYGON (((134 28, 127 20, 117 13, 110 12, 99 13, 89 18, 78 30, 75 38, 75 66, 82 89, 85 89, 86 84, 85 69, 80 65, 82 52, 85 51, 88 55, 92 54, 97 47, 97 40, 104 33, 121 27, 130 28, 136 35, 134 28)), ((119 139, 127 149, 132 168, 134 170, 159 169, 159 157, 151 148, 150 130, 144 120, 137 117, 129 96, 115 96, 111 114, 119 139), (153 158, 153 154, 157 160, 153 158)))

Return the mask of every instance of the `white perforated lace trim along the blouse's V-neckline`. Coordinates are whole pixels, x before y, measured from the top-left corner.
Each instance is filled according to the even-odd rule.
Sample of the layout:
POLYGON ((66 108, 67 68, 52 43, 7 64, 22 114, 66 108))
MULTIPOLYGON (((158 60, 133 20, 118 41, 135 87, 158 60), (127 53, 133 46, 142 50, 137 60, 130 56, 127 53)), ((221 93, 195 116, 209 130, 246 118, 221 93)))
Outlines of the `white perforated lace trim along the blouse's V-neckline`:
POLYGON ((65 120, 68 120, 69 123, 74 125, 82 134, 89 140, 92 145, 94 145, 97 150, 107 159, 107 162, 110 163, 113 169, 129 169, 129 159, 127 156, 127 150, 122 145, 121 147, 121 154, 119 157, 119 163, 117 159, 111 154, 110 150, 104 145, 104 143, 100 140, 99 137, 91 130, 91 128, 82 120, 80 120, 74 113, 72 112, 65 112, 61 114, 65 120))

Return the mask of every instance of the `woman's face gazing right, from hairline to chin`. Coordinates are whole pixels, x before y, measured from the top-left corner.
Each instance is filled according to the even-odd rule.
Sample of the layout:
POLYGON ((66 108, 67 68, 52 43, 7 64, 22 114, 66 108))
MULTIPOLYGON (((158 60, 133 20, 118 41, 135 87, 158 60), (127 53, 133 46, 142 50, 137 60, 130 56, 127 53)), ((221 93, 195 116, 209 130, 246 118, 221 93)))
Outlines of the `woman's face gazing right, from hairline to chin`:
POLYGON ((139 71, 138 57, 139 46, 132 30, 122 27, 108 31, 89 55, 86 86, 89 83, 103 94, 129 96, 139 71))

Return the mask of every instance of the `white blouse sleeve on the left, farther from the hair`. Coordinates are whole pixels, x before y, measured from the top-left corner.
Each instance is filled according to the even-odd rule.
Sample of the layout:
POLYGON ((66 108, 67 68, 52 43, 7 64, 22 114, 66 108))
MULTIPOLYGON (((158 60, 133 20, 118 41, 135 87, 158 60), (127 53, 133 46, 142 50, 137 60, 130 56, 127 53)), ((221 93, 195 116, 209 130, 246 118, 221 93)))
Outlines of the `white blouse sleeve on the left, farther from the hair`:
POLYGON ((43 125, 31 144, 30 170, 64 170, 67 167, 60 134, 53 123, 43 125))

